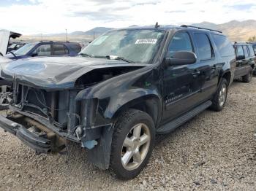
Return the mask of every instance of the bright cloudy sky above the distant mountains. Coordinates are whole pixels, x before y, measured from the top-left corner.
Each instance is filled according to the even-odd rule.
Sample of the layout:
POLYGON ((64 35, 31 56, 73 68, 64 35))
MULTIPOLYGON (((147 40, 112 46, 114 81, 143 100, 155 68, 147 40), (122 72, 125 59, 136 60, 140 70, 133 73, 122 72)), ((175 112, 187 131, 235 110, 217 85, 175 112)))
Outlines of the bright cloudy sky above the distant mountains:
POLYGON ((256 20, 255 0, 0 0, 0 28, 21 34, 103 26, 181 25, 256 20))

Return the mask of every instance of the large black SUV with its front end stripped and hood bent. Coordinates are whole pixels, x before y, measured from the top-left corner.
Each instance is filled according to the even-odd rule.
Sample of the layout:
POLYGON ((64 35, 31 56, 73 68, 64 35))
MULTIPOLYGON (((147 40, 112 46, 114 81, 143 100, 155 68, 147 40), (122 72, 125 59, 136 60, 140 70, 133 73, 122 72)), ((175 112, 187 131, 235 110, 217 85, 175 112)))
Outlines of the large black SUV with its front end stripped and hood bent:
POLYGON ((31 58, 2 67, 13 82, 4 130, 36 152, 66 141, 120 179, 148 163, 155 135, 211 107, 221 111, 236 56, 219 31, 150 26, 109 31, 78 57, 31 58))

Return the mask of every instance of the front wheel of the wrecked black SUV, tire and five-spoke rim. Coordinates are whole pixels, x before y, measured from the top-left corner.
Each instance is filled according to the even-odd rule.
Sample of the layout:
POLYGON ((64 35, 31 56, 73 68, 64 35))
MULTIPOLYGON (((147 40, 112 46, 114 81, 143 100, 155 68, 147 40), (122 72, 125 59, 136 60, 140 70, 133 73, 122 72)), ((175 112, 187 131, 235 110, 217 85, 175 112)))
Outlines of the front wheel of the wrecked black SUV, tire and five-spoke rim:
POLYGON ((154 122, 146 112, 136 109, 123 112, 114 126, 110 174, 124 180, 138 176, 148 163, 154 147, 154 139, 154 122))

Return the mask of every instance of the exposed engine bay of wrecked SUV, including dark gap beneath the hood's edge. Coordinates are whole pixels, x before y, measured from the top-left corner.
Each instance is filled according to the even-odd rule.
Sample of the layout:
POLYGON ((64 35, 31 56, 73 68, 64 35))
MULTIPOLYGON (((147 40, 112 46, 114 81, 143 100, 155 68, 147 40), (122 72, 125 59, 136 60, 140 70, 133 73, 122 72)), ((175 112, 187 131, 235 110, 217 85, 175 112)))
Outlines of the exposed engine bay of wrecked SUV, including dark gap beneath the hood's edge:
POLYGON ((99 112, 97 99, 76 101, 76 96, 80 90, 139 68, 94 69, 79 77, 70 90, 45 90, 14 80, 7 119, 23 125, 39 138, 50 140, 45 141, 49 147, 38 152, 60 151, 65 147, 66 139, 92 148, 100 136, 100 129, 94 126, 108 124, 95 124, 99 112))

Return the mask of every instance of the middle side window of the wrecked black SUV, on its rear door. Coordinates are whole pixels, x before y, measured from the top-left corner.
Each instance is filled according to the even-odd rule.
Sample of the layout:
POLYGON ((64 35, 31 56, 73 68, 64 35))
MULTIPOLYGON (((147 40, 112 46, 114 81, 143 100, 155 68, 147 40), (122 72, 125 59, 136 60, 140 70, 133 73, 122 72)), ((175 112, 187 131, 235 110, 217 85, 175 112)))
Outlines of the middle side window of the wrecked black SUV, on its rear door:
POLYGON ((195 34, 195 42, 197 44, 200 61, 205 61, 213 57, 211 42, 206 34, 195 34))

